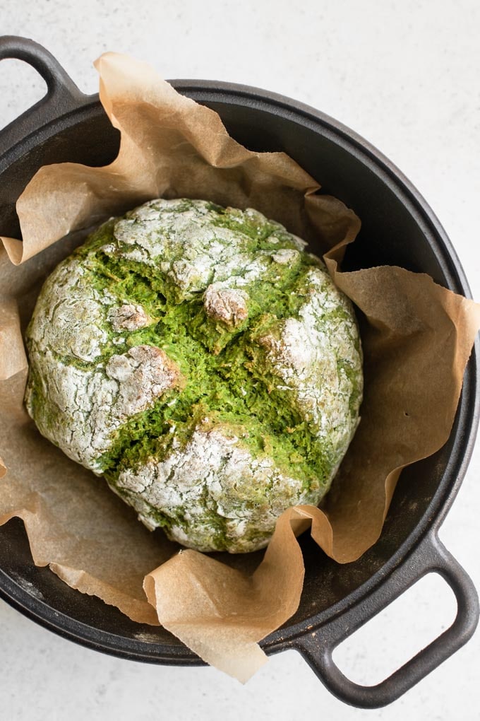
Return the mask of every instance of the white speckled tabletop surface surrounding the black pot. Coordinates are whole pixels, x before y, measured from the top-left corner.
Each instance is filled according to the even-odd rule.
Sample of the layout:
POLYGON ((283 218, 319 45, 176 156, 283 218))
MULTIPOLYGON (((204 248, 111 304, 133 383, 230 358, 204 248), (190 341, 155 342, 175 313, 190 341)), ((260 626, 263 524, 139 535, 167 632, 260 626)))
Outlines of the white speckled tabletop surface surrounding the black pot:
MULTIPOLYGON (((263 87, 327 112, 384 152, 445 226, 480 300, 480 3, 478 0, 0 0, 0 34, 45 45, 84 92, 92 61, 127 52, 166 78, 263 87)), ((41 97, 18 61, 0 64, 0 127, 41 97)), ((480 444, 441 539, 480 588, 480 444)), ((350 677, 376 683, 447 627, 456 603, 422 580, 341 647, 350 677), (386 653, 385 646, 389 645, 386 653)), ((294 651, 245 687, 211 668, 110 658, 62 640, 0 601, 1 720, 135 721, 480 719, 480 632, 402 699, 350 709, 294 651)))

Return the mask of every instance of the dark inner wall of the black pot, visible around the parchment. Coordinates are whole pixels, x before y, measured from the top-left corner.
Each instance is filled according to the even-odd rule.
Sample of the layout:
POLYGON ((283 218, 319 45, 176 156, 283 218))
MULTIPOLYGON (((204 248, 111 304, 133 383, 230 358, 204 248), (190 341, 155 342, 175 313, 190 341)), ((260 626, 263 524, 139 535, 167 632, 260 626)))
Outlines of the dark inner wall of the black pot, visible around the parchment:
MULTIPOLYGON (((248 105, 233 107, 226 102, 208 102, 207 105, 219 112, 237 140, 250 149, 286 151, 320 182, 326 193, 336 195, 358 213, 362 231, 357 248, 349 252, 346 259, 350 269, 359 267, 358 254, 364 253, 368 246, 364 265, 388 263, 421 270, 430 273, 439 283, 461 291, 455 287, 459 282, 455 275, 453 280, 445 275, 445 264, 434 252, 425 228, 399 200, 394 188, 386 185, 361 157, 338 146, 338 138, 332 133, 320 136, 318 127, 315 131, 299 125, 292 115, 281 118, 274 112, 248 105)), ((72 116, 65 124, 66 127, 59 128, 54 136, 49 136, 51 129, 40 131, 35 148, 19 155, 1 174, 2 233, 18 232, 15 200, 42 164, 69 160, 101 165, 107 164, 117 153, 117 132, 109 126, 98 104, 91 107, 88 116, 80 120, 72 116)), ((315 250, 312 247, 312 251, 315 250)), ((306 563, 304 593, 299 611, 288 626, 326 611, 371 578, 391 558, 426 513, 430 500, 443 482, 455 443, 461 443, 458 419, 450 441, 438 454, 403 472, 381 539, 358 562, 343 566, 331 562, 320 553, 308 534, 304 534, 301 539, 306 563)), ((120 647, 127 648, 129 640, 134 642, 142 633, 149 634, 153 648, 155 643, 180 646, 180 642, 163 629, 134 624, 117 609, 71 590, 49 570, 34 567, 20 521, 11 521, 0 528, 0 539, 0 568, 21 588, 29 590, 39 603, 46 603, 75 622, 122 637, 120 647)), ((61 625, 61 616, 57 619, 61 625)))

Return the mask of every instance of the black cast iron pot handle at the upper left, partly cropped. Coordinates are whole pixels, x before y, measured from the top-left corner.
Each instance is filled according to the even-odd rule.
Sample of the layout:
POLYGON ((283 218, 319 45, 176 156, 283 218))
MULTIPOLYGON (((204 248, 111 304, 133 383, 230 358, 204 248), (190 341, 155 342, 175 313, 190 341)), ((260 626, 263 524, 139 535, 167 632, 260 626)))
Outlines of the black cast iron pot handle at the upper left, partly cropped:
POLYGON ((76 87, 53 55, 33 40, 0 36, 0 60, 6 58, 22 60, 35 68, 47 84, 47 94, 0 131, 0 146, 13 148, 42 125, 77 110, 89 97, 76 87))

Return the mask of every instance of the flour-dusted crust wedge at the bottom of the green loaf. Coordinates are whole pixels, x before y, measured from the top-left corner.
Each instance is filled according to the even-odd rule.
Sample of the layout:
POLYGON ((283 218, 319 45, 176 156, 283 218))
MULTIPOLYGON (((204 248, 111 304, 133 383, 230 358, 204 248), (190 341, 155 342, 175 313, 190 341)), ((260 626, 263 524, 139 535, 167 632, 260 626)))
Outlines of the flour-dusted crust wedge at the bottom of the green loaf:
POLYGON ((285 508, 303 503, 302 484, 279 472, 273 459, 253 459, 239 441, 232 429, 200 426, 185 448, 174 450, 164 461, 150 459, 140 469, 120 473, 117 489, 152 528, 152 507, 166 509, 173 518, 178 508, 185 508, 188 531, 185 523, 173 523, 169 529, 181 544, 211 551, 214 516, 220 515, 231 547, 253 551, 271 535, 285 508))

